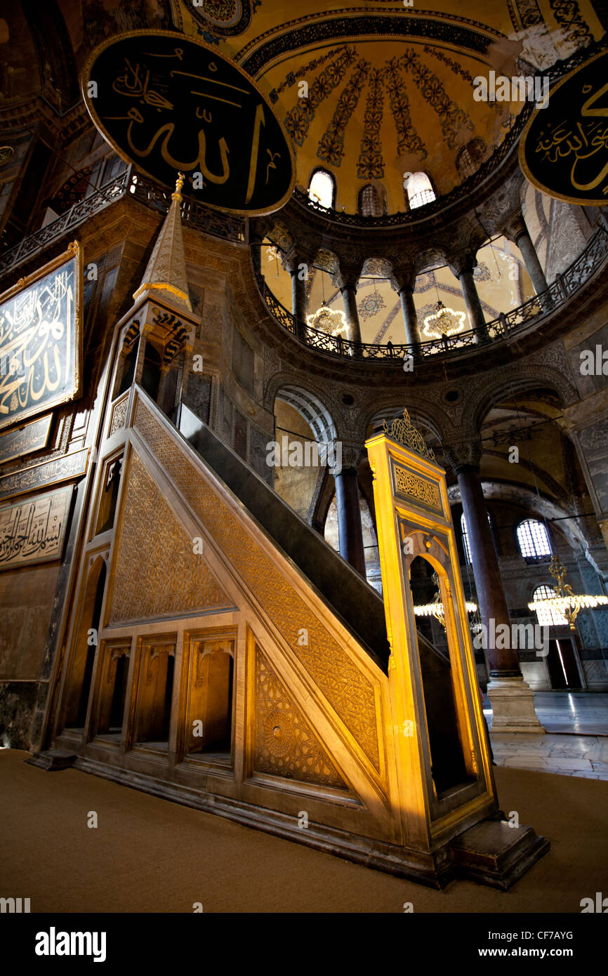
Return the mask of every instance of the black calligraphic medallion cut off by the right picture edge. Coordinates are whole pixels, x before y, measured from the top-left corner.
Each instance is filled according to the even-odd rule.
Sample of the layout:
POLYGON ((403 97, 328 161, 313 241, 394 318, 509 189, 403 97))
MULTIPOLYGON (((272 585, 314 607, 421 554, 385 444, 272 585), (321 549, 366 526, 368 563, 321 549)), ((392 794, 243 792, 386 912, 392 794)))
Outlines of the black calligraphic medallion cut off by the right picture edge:
POLYGON ((608 203, 608 51, 551 88, 519 141, 519 163, 534 186, 569 203, 608 203))

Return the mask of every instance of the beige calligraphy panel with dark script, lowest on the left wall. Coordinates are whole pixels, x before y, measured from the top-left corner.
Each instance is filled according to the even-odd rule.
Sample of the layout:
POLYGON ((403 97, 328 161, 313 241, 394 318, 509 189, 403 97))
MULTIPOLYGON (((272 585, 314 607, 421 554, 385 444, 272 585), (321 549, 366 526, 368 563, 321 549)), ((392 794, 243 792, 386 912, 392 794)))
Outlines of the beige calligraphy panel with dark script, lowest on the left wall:
POLYGON ((61 488, 0 508, 0 572, 61 559, 72 491, 61 488))

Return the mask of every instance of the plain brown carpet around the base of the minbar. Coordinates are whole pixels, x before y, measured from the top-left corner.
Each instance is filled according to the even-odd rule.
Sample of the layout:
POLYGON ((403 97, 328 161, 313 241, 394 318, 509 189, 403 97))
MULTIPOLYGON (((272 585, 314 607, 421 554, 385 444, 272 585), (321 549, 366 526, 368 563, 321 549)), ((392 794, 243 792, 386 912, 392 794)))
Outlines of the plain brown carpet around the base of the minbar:
POLYGON ((507 893, 444 891, 350 864, 222 817, 0 751, 0 895, 31 912, 580 913, 608 891, 608 783, 498 768, 503 809, 551 850, 507 893), (87 827, 98 813, 99 827, 87 827))

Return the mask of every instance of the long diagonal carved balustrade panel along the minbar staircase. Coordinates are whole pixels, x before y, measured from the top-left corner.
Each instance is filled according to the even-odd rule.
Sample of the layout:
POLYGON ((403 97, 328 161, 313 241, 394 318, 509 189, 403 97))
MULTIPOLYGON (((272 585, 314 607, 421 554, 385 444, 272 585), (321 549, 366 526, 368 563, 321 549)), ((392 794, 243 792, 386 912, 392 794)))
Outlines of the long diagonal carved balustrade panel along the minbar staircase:
POLYGON ((135 427, 245 586, 377 769, 380 753, 374 688, 249 533, 223 505, 149 410, 138 402, 135 427), (301 646, 300 630, 308 631, 301 646))

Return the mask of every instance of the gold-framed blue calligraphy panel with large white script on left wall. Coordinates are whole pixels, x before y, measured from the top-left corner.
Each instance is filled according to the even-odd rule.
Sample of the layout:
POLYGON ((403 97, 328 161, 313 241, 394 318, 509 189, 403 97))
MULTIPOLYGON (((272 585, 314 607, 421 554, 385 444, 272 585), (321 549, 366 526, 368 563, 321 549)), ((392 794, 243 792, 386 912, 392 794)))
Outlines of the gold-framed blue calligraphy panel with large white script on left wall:
POLYGON ((76 241, 0 296, 0 429, 80 393, 81 307, 76 241))

